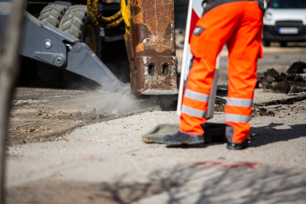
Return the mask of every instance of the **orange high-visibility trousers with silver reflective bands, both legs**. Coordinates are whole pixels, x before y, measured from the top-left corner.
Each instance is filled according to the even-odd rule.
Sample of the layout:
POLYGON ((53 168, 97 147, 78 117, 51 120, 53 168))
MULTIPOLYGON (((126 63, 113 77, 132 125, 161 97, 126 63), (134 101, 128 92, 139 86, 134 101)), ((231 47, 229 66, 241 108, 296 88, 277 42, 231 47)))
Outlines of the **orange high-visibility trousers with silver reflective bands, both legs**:
POLYGON ((216 57, 227 43, 226 137, 236 143, 246 139, 257 81, 257 59, 262 56, 262 15, 256 1, 236 1, 212 8, 197 21, 190 40, 193 59, 182 99, 181 132, 204 133, 200 124, 206 121, 216 57))

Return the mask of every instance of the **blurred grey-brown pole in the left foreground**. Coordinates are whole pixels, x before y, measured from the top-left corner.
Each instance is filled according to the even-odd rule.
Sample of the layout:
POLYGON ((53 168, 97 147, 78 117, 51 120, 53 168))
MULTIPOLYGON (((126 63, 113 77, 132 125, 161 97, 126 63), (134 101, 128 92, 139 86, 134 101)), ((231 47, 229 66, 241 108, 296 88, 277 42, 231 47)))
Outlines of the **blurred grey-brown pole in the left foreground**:
POLYGON ((22 35, 24 7, 25 0, 13 0, 6 36, 0 36, 0 203, 5 202, 5 139, 10 102, 19 72, 18 50, 22 35))

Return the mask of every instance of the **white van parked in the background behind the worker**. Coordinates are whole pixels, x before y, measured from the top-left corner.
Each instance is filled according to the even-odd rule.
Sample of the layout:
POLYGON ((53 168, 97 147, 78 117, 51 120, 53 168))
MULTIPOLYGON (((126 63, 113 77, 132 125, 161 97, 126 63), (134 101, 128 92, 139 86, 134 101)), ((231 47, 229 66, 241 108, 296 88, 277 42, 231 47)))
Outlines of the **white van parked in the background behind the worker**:
POLYGON ((306 0, 270 0, 263 16, 263 44, 306 41, 306 0))

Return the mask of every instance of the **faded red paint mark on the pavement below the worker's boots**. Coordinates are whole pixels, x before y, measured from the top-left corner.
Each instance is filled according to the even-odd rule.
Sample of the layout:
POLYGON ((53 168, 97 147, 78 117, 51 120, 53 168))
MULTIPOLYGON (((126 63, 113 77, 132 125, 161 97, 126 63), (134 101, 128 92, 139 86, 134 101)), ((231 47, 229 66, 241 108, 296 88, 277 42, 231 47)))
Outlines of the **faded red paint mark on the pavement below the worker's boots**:
POLYGON ((241 167, 247 167, 251 169, 255 169, 258 165, 261 165, 262 163, 258 162, 248 162, 248 161, 235 161, 233 163, 222 163, 219 161, 199 161, 195 162, 195 165, 219 165, 223 168, 241 168, 241 167))

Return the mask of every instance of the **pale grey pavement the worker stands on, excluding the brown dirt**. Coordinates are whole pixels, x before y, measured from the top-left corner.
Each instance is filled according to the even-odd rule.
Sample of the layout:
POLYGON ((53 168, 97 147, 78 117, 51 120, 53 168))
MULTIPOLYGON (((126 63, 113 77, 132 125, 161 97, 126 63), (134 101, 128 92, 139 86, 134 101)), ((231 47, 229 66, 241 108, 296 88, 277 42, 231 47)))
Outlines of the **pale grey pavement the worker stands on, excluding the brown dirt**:
MULTIPOLYGON (((167 148, 141 142, 154 124, 177 123, 174 111, 9 147, 8 203, 304 203, 305 104, 266 106, 275 115, 252 118, 253 141, 241 151, 223 143, 167 148)), ((216 112, 211 121, 223 119, 216 112)))

